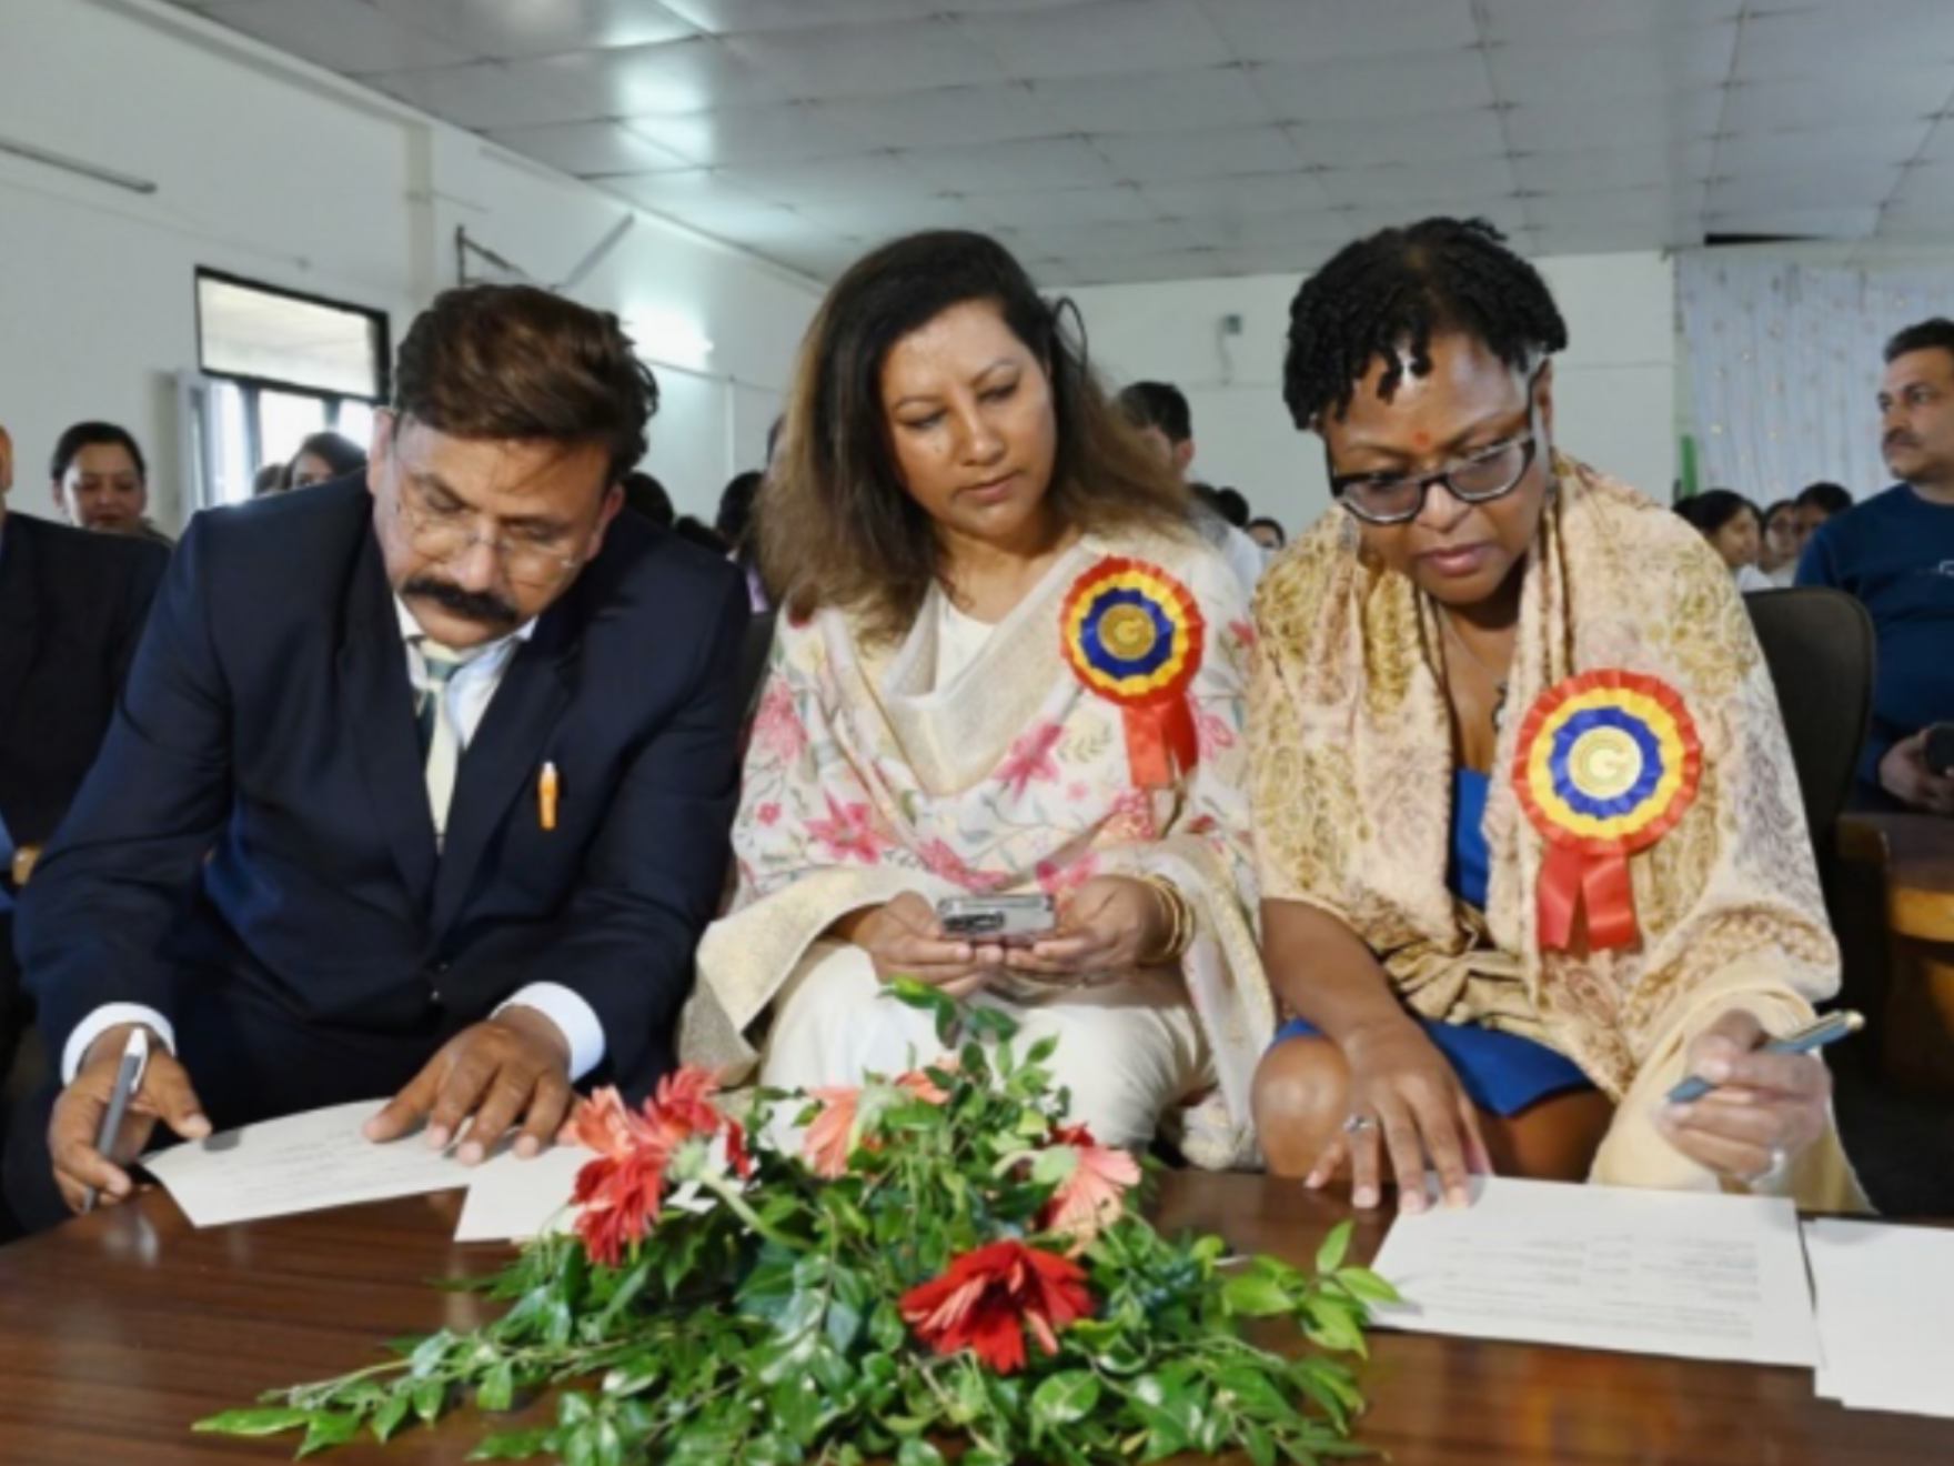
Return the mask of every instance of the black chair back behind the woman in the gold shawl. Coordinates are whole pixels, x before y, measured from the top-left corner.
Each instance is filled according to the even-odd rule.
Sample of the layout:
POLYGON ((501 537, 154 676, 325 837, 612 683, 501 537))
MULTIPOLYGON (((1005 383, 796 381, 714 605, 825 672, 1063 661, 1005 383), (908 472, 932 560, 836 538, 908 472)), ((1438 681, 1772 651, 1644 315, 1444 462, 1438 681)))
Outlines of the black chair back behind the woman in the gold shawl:
POLYGON ((1872 618, 1839 590, 1757 590, 1743 604, 1778 688, 1805 823, 1825 864, 1872 719, 1872 618))

